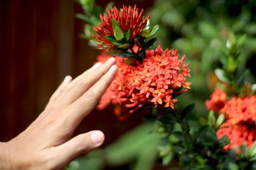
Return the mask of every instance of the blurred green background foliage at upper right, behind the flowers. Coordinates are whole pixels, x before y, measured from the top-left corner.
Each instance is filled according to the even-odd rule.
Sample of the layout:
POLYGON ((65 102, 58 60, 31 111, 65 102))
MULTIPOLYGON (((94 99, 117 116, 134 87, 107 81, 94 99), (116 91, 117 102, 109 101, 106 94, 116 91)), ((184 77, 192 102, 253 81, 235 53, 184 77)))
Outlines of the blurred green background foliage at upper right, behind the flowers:
MULTIPOLYGON (((186 96, 181 96, 179 105, 184 107, 184 101, 195 101, 194 114, 205 116, 205 99, 218 83, 216 77, 212 76, 214 69, 220 68, 225 60, 229 62, 225 69, 235 72, 239 67, 236 71, 239 75, 248 67, 249 60, 255 62, 255 7, 255 1, 156 0, 149 11, 150 23, 161 28, 155 36, 163 47, 174 47, 181 54, 186 54, 186 60, 193 68, 191 90, 186 96), (236 44, 234 47, 239 54, 236 55, 239 62, 226 53, 226 42, 232 39, 232 34, 236 38, 232 44, 236 44)), ((252 83, 255 82, 255 75, 250 72, 255 70, 255 65, 250 65, 244 81, 252 83)), ((228 81, 225 76, 220 77, 228 81)))

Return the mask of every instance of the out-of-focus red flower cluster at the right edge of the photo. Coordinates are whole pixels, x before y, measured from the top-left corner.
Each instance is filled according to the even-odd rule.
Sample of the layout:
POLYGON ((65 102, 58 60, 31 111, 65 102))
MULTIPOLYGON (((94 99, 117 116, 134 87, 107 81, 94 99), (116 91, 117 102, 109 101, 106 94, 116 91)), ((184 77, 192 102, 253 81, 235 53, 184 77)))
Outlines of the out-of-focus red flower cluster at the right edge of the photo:
POLYGON ((232 149, 243 143, 249 148, 256 141, 256 95, 251 97, 231 97, 216 89, 211 99, 205 101, 209 110, 224 114, 226 122, 217 132, 219 138, 226 135, 230 144, 224 149, 232 149))

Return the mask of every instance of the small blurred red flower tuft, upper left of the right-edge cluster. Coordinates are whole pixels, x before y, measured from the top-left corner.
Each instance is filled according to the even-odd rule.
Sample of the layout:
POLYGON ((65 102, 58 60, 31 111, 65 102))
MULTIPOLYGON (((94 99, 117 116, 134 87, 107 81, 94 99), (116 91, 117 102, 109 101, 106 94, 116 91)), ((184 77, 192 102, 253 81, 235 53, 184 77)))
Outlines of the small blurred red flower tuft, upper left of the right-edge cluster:
POLYGON ((216 88, 212 93, 210 100, 205 101, 206 108, 208 110, 214 110, 214 112, 220 113, 220 110, 224 108, 228 99, 228 95, 221 89, 216 88))

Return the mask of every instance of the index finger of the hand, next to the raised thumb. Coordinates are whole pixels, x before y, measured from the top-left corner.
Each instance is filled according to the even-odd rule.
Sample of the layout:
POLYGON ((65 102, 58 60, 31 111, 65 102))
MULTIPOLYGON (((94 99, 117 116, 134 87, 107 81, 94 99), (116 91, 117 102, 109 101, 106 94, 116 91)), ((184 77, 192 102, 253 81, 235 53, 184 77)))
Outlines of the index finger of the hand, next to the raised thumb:
POLYGON ((68 110, 70 110, 69 113, 72 116, 70 116, 69 121, 71 122, 69 122, 69 124, 79 124, 79 122, 95 108, 100 97, 115 79, 117 70, 117 65, 113 65, 97 83, 69 106, 68 110))

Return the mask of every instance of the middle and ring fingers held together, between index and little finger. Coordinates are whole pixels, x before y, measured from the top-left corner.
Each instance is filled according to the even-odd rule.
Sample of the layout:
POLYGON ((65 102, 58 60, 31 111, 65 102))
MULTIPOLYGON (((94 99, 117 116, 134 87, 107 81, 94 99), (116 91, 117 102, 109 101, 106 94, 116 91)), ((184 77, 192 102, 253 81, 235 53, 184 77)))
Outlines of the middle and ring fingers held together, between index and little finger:
POLYGON ((79 97, 84 95, 94 83, 96 83, 108 70, 110 67, 115 65, 115 58, 108 59, 103 65, 98 64, 96 67, 92 67, 89 71, 77 77, 70 85, 67 87, 67 93, 61 97, 58 105, 61 107, 66 107, 77 100, 79 97))

